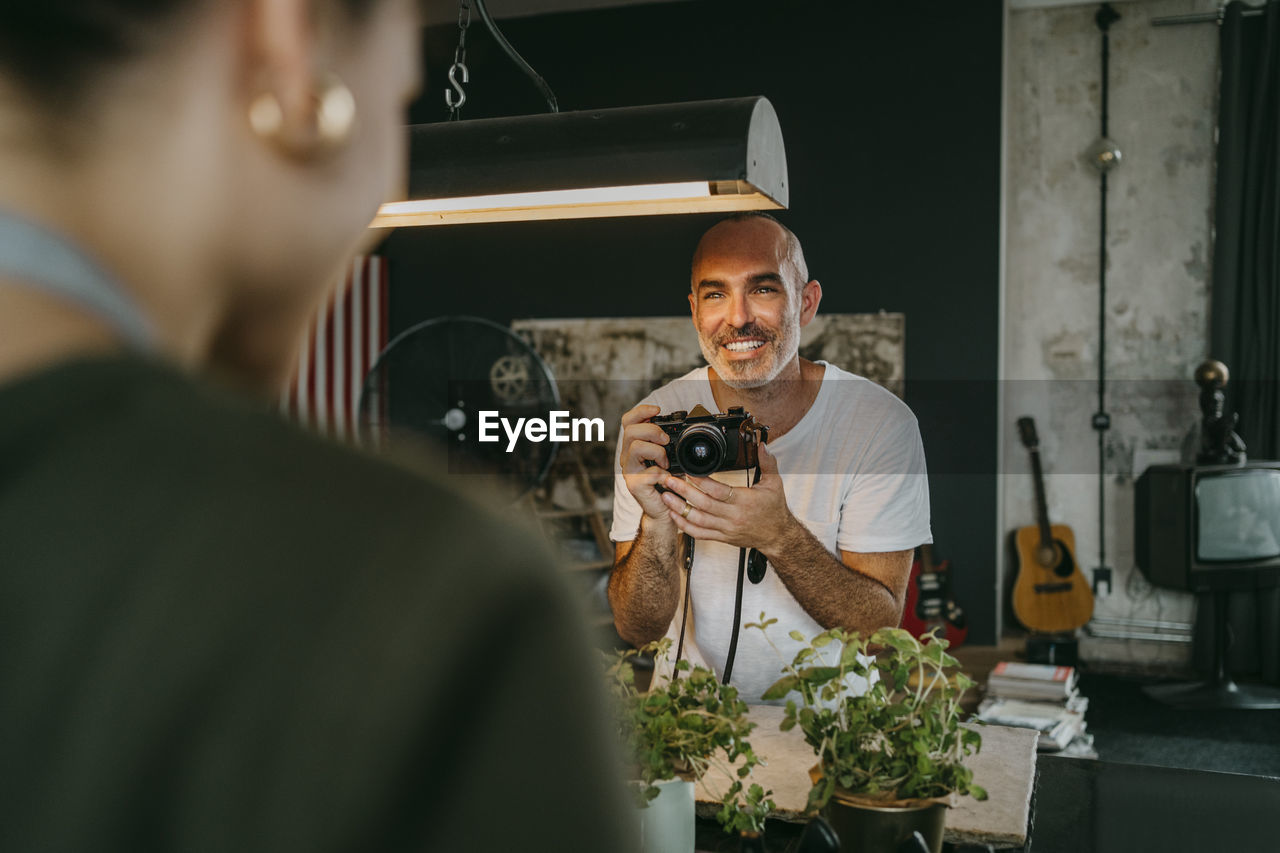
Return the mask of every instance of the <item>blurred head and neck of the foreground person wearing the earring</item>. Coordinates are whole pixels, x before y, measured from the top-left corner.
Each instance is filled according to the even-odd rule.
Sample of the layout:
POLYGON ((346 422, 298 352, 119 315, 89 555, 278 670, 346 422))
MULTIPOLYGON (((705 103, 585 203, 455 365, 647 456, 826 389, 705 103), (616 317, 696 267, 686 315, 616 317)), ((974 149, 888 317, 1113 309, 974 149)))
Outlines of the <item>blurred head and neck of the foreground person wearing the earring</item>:
POLYGON ((278 370, 403 186, 420 22, 416 0, 0 0, 0 214, 100 259, 183 360, 278 370))

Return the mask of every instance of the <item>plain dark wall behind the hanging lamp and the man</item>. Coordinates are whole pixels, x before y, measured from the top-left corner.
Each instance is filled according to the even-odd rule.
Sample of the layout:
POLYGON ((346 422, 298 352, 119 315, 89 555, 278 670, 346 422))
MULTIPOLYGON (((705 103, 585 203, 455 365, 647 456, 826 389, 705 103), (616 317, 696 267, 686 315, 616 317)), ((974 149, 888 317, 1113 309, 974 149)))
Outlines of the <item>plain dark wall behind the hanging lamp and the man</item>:
MULTIPOLYGON (((498 6, 499 4, 493 4, 498 6)), ((495 9, 502 13, 500 6, 495 9)), ((995 642, 1000 0, 663 3, 500 22, 561 109, 764 95, 822 310, 906 314, 908 402, 929 460, 933 533, 972 642, 995 642)), ((454 27, 428 31, 413 122, 447 118, 454 27)), ((465 118, 545 110, 476 20, 465 118)), ((447 314, 687 310, 716 216, 416 228, 383 246, 392 332, 447 314)))

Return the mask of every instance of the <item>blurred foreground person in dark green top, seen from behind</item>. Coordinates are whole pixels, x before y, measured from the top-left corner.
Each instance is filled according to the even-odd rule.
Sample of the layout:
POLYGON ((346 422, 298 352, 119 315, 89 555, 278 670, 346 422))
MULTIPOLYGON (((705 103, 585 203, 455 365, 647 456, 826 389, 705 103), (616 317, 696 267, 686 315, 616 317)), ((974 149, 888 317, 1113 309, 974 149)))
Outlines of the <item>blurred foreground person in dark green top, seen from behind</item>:
POLYGON ((243 398, 403 177, 419 36, 0 3, 0 848, 625 848, 541 558, 243 398))

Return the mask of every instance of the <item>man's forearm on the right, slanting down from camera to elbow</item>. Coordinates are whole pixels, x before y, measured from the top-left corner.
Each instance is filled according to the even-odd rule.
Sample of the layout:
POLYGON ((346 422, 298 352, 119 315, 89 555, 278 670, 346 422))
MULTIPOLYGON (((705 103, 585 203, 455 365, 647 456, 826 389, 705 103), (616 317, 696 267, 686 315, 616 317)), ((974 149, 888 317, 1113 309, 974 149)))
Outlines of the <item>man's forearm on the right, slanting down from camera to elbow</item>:
POLYGON ((771 551, 769 565, 823 628, 870 633, 901 620, 901 605, 884 584, 846 566, 799 521, 771 551))

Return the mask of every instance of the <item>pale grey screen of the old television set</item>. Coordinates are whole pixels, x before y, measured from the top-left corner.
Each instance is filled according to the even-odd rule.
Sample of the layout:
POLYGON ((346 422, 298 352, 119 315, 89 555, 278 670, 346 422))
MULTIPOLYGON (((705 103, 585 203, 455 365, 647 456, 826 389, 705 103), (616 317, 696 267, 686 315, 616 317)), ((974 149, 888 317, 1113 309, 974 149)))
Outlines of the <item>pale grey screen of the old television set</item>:
POLYGON ((1196 478, 1196 510, 1197 560, 1280 557, 1280 470, 1206 471, 1196 478))

